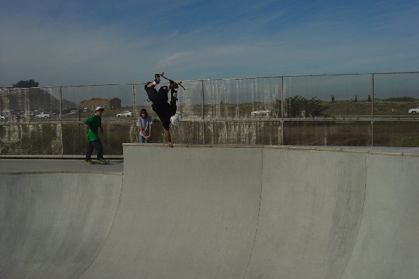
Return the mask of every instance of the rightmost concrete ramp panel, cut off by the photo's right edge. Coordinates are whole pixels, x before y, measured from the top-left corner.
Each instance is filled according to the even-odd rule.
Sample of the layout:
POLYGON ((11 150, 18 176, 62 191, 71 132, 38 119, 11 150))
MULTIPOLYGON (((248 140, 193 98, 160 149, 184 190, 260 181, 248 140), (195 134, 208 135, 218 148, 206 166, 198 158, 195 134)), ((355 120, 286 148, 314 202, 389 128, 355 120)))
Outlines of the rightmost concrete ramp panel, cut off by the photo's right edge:
POLYGON ((419 278, 418 163, 418 156, 366 156, 362 222, 341 278, 419 278))

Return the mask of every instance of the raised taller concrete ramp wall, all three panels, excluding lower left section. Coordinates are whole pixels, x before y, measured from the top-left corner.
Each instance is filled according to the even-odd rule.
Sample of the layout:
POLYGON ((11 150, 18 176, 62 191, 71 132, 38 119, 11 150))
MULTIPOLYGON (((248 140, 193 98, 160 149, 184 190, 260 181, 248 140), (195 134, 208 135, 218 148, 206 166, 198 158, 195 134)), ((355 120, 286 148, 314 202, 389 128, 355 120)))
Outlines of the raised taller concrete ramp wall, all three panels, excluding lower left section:
POLYGON ((115 226, 82 278, 418 278, 416 155, 125 144, 124 158, 115 226))

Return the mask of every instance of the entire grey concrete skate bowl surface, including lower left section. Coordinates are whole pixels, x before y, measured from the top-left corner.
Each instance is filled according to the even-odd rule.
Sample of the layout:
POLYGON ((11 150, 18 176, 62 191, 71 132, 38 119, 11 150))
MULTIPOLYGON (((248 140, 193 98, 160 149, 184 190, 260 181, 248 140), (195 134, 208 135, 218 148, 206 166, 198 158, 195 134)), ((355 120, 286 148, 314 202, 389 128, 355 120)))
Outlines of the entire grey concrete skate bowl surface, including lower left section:
POLYGON ((419 278, 419 149, 0 158, 0 278, 419 278))

